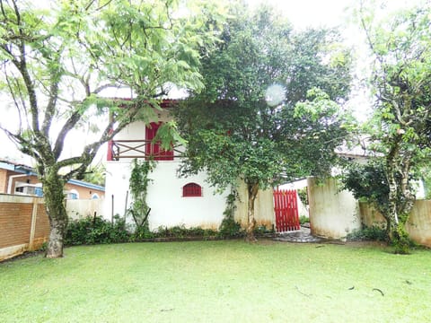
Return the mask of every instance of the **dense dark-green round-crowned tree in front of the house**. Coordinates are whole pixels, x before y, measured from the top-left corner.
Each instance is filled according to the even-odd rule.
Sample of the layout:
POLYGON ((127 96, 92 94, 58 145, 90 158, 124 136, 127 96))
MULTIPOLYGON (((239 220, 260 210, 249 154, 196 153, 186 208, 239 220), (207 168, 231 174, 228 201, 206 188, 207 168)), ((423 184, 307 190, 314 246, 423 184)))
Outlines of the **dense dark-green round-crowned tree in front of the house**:
POLYGON ((252 241, 259 189, 330 171, 347 135, 334 100, 347 96, 350 60, 336 31, 295 33, 268 7, 232 16, 203 59, 205 90, 174 114, 188 142, 180 173, 207 170, 221 189, 245 182, 252 241))

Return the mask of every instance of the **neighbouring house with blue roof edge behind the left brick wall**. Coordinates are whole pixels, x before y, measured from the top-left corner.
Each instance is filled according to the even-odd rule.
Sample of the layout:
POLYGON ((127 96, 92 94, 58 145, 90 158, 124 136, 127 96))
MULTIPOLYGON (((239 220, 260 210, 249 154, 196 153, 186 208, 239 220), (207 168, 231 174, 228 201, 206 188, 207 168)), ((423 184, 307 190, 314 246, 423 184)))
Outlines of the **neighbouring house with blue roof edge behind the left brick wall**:
MULTIPOLYGON (((43 196, 42 184, 31 167, 0 160, 0 193, 43 196)), ((65 185, 67 199, 104 198, 105 188, 82 180, 70 179, 65 185)))

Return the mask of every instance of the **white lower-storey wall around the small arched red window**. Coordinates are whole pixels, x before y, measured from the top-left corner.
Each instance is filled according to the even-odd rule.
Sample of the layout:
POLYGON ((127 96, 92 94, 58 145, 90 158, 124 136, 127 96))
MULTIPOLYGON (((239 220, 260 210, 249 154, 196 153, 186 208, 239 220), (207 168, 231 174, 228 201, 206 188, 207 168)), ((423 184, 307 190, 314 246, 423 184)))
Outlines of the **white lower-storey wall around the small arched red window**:
MULTIPOLYGON (((159 226, 175 225, 217 229, 223 220, 226 194, 214 194, 214 188, 205 182, 203 173, 189 178, 178 178, 179 164, 177 161, 157 162, 155 169, 148 176, 152 179, 147 196, 147 203, 151 207, 150 230, 156 230, 159 226), (182 196, 183 186, 191 182, 202 187, 203 196, 182 196)), ((112 196, 113 214, 124 216, 125 210, 130 206, 131 197, 128 196, 126 202, 126 196, 131 169, 129 161, 107 163, 104 214, 108 214, 105 217, 109 219, 112 214, 112 196)))

